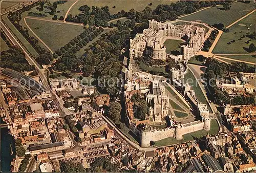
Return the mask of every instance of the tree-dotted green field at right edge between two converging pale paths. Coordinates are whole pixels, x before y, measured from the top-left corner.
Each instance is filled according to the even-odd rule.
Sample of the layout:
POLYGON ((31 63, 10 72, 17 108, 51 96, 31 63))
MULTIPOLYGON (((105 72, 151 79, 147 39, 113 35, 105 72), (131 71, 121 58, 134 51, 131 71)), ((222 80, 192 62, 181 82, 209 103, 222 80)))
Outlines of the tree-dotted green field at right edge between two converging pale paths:
POLYGON ((253 31, 255 31, 255 12, 230 27, 229 32, 223 32, 220 40, 217 42, 217 45, 214 48, 213 53, 248 53, 244 48, 248 48, 252 43, 255 45, 256 40, 251 40, 246 36, 244 38, 241 37, 246 35, 246 33, 252 33, 253 31), (235 40, 235 42, 230 42, 232 40, 235 40), (248 40, 250 41, 247 43, 248 40), (228 42, 231 44, 228 45, 228 42))

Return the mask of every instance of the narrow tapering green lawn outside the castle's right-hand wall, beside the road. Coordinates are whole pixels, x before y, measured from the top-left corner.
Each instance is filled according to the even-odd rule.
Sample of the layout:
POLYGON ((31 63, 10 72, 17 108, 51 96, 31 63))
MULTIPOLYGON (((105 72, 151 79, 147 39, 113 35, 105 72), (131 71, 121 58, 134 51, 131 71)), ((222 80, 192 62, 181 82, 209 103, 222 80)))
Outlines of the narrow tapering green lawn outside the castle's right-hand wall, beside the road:
POLYGON ((202 103, 207 104, 208 105, 207 108, 209 109, 209 112, 212 113, 210 106, 203 94, 203 91, 199 87, 198 81, 196 80, 195 76, 193 75, 193 73, 190 70, 188 70, 187 74, 185 74, 184 82, 191 85, 191 90, 195 91, 196 97, 198 98, 198 100, 202 103))

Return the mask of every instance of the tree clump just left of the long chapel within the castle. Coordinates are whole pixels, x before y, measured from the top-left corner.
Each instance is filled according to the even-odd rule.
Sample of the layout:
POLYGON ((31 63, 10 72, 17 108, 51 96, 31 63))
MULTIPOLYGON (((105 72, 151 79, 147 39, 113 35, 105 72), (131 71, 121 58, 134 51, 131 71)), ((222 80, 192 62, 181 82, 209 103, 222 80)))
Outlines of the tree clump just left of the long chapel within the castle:
POLYGON ((134 94, 131 97, 131 101, 134 103, 134 117, 138 118, 139 120, 145 120, 145 116, 148 112, 146 101, 139 94, 134 94))

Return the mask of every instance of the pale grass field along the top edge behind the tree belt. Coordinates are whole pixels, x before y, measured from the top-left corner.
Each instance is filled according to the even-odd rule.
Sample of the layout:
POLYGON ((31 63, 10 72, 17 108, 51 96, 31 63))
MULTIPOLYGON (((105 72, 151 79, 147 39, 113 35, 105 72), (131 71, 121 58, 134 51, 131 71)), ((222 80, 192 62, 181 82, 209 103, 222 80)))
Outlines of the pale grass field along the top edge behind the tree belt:
MULTIPOLYGON (((175 3, 176 1, 172 1, 173 3, 175 3)), ((111 14, 116 14, 121 10, 124 11, 129 11, 131 9, 134 9, 135 11, 142 11, 146 6, 148 6, 148 4, 152 3, 152 6, 148 6, 151 9, 155 9, 159 4, 170 4, 172 3, 171 1, 139 1, 139 0, 135 0, 135 1, 118 1, 118 0, 114 0, 114 1, 105 1, 105 0, 101 0, 101 1, 79 1, 78 3, 76 3, 73 8, 70 10, 69 14, 77 15, 80 13, 80 11, 78 10, 79 7, 83 6, 83 5, 88 5, 91 9, 92 6, 97 6, 97 7, 104 7, 104 6, 109 6, 109 11, 111 14), (113 8, 113 7, 116 8, 113 8)))

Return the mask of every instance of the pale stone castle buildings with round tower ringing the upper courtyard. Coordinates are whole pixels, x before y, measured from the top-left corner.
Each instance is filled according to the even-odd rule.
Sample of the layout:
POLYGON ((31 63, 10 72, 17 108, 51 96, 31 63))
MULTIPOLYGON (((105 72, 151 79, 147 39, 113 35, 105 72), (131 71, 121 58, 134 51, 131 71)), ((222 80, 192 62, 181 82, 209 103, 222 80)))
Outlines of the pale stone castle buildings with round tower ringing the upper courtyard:
POLYGON ((136 34, 130 40, 130 58, 150 55, 153 59, 164 60, 168 54, 163 45, 167 39, 182 40, 187 36, 188 45, 181 46, 181 55, 168 55, 176 60, 189 60, 195 53, 201 50, 205 41, 206 24, 196 21, 167 21, 160 23, 154 19, 149 20, 149 28, 144 29, 142 34, 136 34), (204 27, 203 27, 204 26, 204 27))

